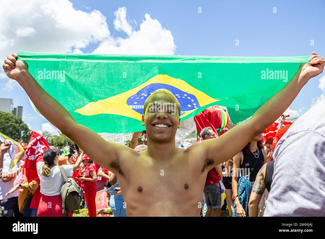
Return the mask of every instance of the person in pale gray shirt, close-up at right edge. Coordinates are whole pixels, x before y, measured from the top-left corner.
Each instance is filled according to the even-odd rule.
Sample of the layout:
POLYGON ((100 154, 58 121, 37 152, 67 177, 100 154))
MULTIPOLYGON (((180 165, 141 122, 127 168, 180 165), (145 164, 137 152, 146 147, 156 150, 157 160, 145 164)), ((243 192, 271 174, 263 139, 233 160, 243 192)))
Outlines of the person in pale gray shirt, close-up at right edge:
POLYGON ((266 217, 325 216, 325 98, 277 143, 266 217))

